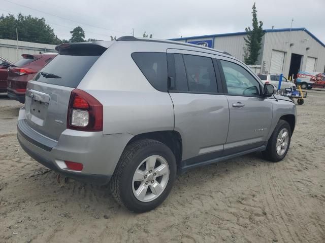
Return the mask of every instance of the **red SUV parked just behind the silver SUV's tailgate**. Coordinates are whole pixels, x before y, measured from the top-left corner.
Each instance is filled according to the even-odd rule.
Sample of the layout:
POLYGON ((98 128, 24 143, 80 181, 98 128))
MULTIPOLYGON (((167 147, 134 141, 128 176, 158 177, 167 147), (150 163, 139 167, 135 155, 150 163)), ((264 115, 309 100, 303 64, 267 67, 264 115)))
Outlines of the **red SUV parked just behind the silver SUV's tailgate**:
POLYGON ((56 53, 22 54, 22 59, 8 68, 9 98, 25 103, 27 82, 56 55, 56 53))

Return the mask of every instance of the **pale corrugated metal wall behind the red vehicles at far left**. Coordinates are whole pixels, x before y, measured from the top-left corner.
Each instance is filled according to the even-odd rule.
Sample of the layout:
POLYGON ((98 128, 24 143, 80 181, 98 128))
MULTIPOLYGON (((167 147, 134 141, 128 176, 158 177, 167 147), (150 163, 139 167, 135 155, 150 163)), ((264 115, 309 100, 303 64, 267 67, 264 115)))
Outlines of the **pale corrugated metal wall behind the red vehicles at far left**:
POLYGON ((55 45, 21 42, 18 41, 18 58, 16 41, 12 39, 0 39, 0 56, 11 62, 16 62, 21 58, 21 54, 37 54, 45 52, 56 52, 55 45))

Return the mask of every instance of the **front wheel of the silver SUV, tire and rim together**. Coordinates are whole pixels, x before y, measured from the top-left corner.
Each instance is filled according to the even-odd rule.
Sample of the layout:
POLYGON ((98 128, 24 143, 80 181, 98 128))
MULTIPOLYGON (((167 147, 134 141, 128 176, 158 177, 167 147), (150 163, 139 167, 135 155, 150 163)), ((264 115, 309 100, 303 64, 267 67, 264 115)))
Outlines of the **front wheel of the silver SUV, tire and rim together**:
POLYGON ((285 120, 279 120, 276 125, 263 156, 272 162, 282 160, 288 152, 291 141, 290 125, 285 120))

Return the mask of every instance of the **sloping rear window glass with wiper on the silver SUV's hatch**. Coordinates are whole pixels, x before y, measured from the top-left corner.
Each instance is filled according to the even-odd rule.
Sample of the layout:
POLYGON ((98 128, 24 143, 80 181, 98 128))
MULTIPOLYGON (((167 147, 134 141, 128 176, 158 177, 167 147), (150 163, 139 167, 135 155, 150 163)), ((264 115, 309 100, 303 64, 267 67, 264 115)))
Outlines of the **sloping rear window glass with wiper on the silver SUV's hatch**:
POLYGON ((76 88, 99 56, 57 55, 34 78, 34 80, 76 88))

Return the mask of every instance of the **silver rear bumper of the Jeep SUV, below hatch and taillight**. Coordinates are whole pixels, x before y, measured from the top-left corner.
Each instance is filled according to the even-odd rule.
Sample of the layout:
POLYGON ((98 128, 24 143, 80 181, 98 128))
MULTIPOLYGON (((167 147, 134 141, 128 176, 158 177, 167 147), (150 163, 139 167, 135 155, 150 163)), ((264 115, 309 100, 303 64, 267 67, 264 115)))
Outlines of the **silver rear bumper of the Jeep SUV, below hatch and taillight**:
POLYGON ((25 109, 17 121, 17 138, 29 156, 67 177, 95 184, 107 184, 131 134, 103 135, 102 132, 65 130, 55 141, 29 127, 25 109), (83 164, 83 171, 67 168, 65 160, 83 164))

